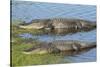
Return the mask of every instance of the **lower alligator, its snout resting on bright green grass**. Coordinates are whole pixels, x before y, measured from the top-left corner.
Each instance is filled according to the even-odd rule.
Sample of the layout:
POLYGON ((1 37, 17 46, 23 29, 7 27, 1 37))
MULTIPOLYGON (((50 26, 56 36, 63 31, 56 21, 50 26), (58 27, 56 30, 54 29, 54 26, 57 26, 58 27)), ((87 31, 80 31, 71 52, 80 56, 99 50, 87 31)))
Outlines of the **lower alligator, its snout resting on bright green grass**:
POLYGON ((96 42, 84 42, 77 40, 56 40, 53 42, 43 42, 33 46, 30 49, 24 50, 24 54, 46 54, 46 53, 61 53, 61 52, 80 52, 81 50, 91 49, 96 47, 96 42))

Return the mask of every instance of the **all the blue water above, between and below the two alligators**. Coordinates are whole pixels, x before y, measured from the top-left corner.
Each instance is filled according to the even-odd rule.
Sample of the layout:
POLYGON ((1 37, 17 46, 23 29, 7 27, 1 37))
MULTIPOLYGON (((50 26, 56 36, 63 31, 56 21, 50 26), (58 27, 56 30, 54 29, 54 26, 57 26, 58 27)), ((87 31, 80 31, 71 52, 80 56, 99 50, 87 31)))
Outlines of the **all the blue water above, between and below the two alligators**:
MULTIPOLYGON (((13 2, 12 4, 12 19, 24 20, 30 22, 32 19, 43 18, 80 18, 85 20, 96 21, 96 6, 93 5, 71 5, 71 4, 51 4, 39 2, 13 2)), ((96 41, 96 30, 89 32, 78 32, 75 34, 68 34, 63 36, 55 35, 38 35, 33 36, 29 33, 20 35, 23 38, 33 38, 40 41, 50 42, 53 40, 82 40, 82 41, 96 41)), ((75 56, 64 56, 61 62, 85 62, 96 61, 96 48, 78 54, 75 56)))

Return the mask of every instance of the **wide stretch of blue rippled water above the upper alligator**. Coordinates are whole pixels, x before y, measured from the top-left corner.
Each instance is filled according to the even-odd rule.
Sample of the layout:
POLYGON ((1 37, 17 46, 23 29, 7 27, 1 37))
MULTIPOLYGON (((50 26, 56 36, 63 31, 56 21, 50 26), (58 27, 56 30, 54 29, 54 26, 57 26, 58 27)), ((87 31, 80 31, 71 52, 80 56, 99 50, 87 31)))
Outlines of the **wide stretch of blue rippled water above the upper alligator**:
POLYGON ((96 6, 52 4, 40 2, 13 2, 12 18, 30 22, 32 19, 43 18, 80 18, 96 21, 96 6))

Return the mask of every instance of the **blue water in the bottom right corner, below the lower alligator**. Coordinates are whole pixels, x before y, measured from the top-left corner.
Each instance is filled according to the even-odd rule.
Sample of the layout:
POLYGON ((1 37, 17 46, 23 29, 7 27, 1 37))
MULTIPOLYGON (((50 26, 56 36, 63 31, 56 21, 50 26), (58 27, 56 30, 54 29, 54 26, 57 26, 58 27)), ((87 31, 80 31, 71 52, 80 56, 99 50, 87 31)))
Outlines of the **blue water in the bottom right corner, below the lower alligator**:
POLYGON ((94 62, 96 61, 96 48, 74 56, 64 56, 61 62, 63 63, 68 60, 70 62, 94 62))

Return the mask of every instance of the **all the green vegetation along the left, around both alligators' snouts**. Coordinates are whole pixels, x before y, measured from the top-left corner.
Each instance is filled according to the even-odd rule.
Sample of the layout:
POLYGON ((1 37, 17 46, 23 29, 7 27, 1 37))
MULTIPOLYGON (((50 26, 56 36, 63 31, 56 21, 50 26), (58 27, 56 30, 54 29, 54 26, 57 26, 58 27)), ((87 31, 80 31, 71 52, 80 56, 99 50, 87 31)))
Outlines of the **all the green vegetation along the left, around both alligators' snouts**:
POLYGON ((62 56, 56 54, 23 54, 23 50, 33 47, 40 43, 34 39, 24 39, 19 37, 22 33, 38 34, 42 33, 41 30, 24 30, 17 28, 16 25, 11 27, 11 53, 12 53, 12 66, 27 66, 27 65, 39 65, 39 64, 56 64, 60 63, 62 56))

